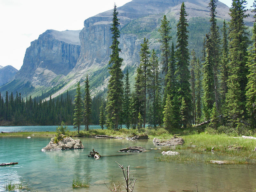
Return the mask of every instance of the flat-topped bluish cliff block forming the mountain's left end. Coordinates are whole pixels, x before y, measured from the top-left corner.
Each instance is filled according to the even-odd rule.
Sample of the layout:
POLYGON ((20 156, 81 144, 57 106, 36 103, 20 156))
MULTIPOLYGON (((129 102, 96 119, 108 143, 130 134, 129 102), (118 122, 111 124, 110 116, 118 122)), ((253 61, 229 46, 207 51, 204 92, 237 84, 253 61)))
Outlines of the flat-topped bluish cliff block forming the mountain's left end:
POLYGON ((79 32, 45 31, 31 42, 15 79, 28 80, 33 86, 51 86, 57 76, 66 76, 80 54, 79 32))

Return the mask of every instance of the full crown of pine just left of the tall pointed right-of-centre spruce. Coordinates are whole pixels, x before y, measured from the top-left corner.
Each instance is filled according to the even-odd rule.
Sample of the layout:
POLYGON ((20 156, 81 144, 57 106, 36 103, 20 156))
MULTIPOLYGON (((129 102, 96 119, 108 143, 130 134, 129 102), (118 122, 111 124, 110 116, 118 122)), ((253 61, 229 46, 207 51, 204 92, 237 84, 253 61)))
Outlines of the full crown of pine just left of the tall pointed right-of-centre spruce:
MULTIPOLYGON (((162 51, 162 64, 163 64, 163 71, 164 75, 168 72, 168 62, 170 58, 170 44, 169 41, 172 39, 172 36, 170 36, 171 32, 170 27, 170 21, 167 20, 166 15, 164 15, 164 18, 161 20, 161 26, 158 29, 161 39, 160 39, 160 49, 162 51)), ((165 82, 166 83, 166 82, 165 82)), ((166 85, 166 84, 165 84, 166 85)))

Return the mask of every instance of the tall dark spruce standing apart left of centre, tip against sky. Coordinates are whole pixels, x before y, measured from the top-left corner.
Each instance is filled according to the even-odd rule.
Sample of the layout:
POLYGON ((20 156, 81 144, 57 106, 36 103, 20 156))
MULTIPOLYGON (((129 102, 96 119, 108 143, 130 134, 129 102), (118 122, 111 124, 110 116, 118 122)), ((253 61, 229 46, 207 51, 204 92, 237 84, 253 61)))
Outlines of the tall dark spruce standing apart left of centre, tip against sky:
POLYGON ((121 70, 121 65, 123 59, 119 57, 119 52, 121 49, 118 47, 120 44, 118 38, 120 37, 120 31, 118 29, 119 22, 117 19, 117 10, 116 4, 114 5, 113 11, 113 23, 111 24, 111 32, 113 34, 112 45, 110 48, 112 49, 112 53, 110 55, 109 60, 109 74, 110 78, 108 81, 108 95, 107 95, 107 120, 106 125, 109 129, 118 129, 118 125, 121 123, 122 116, 122 100, 124 95, 123 90, 123 72, 121 70))

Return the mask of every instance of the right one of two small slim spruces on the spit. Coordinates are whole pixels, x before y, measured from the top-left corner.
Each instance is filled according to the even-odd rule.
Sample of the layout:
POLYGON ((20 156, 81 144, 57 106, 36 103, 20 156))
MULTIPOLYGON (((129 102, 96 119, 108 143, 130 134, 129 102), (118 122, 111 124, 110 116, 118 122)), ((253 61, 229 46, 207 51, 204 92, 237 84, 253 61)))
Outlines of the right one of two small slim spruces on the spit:
POLYGON ((89 124, 92 121, 92 98, 90 95, 90 90, 89 90, 89 80, 88 80, 88 75, 86 76, 86 81, 85 81, 85 97, 84 97, 84 126, 85 126, 85 131, 89 131, 89 124))

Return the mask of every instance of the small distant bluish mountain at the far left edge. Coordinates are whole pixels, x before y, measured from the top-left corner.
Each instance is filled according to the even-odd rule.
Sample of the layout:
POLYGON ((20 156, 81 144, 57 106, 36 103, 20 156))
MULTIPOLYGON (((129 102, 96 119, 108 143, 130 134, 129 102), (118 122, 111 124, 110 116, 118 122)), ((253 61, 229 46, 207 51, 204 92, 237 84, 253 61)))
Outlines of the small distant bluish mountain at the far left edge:
POLYGON ((17 72, 18 70, 11 65, 5 67, 0 66, 0 86, 12 81, 17 72))

